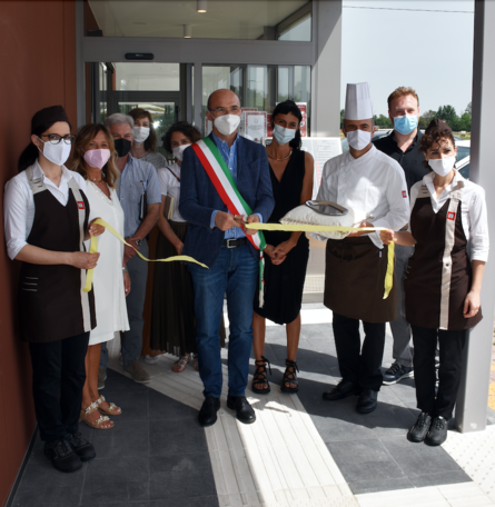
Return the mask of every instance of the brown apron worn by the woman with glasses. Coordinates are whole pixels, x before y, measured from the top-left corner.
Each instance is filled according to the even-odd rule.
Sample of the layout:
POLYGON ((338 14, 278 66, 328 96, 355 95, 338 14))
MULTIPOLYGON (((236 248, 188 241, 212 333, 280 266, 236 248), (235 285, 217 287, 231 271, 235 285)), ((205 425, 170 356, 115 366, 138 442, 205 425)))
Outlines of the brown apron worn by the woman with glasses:
MULTIPOLYGON (((76 180, 69 181, 66 206, 26 170, 34 198, 29 245, 52 251, 83 251, 89 203, 76 180)), ((92 289, 83 292, 86 271, 73 266, 23 262, 19 279, 20 337, 44 344, 88 332, 96 327, 92 289)))

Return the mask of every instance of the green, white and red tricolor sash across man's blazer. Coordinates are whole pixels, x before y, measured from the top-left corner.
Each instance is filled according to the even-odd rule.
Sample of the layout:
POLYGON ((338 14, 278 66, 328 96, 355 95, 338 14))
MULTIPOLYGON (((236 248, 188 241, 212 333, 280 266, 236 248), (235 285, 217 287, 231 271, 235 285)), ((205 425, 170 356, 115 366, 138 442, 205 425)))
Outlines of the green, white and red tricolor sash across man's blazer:
MULTIPOLYGON (((206 137, 200 141, 195 142, 192 149, 230 213, 245 216, 253 215, 251 208, 240 195, 237 183, 234 181, 232 175, 215 142, 209 137, 206 137)), ((266 247, 265 236, 259 230, 256 235, 246 235, 246 237, 251 245, 259 250, 259 306, 263 307, 263 271, 265 268, 263 250, 265 250, 266 247)))

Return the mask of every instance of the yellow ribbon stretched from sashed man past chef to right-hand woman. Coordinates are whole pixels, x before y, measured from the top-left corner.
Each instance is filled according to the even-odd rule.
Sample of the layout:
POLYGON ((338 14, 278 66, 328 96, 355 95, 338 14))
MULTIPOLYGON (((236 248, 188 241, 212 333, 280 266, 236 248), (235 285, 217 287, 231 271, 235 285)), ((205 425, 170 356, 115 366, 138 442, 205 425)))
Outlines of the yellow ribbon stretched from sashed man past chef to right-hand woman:
MULTIPOLYGON (((341 226, 310 226, 306 223, 245 223, 247 229, 257 229, 257 230, 283 230, 286 232, 353 232, 365 230, 368 232, 374 232, 377 230, 388 230, 386 227, 341 227, 341 226)), ((385 284, 384 284, 384 299, 388 298, 390 294, 392 286, 394 285, 394 255, 395 255, 395 245, 390 242, 388 245, 388 257, 387 257, 387 271, 385 274, 385 284)))

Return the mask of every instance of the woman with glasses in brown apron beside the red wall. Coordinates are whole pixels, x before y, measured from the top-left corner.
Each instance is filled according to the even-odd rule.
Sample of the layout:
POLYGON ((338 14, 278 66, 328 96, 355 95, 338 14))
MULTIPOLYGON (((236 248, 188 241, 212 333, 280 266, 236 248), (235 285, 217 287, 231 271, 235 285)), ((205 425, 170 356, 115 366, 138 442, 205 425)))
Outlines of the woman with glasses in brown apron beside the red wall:
POLYGON ((19 175, 6 186, 4 222, 9 257, 22 261, 19 284, 20 337, 29 344, 32 395, 44 454, 61 471, 96 456, 78 431, 85 356, 95 328, 92 290, 83 292, 86 269, 99 254, 83 240, 103 232, 88 225, 83 179, 69 171, 73 136, 61 106, 38 111, 19 175))

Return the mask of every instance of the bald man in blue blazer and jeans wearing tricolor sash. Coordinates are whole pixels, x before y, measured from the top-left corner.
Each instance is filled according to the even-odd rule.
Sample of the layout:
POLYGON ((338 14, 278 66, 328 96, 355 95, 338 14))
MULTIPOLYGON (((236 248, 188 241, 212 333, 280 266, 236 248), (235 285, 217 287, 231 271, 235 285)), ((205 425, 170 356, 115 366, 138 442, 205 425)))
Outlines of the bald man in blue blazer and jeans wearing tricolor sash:
MULTIPOLYGON (((240 102, 230 90, 208 99, 207 117, 214 122, 210 138, 229 168, 239 192, 253 209, 249 222, 268 220, 275 206, 265 148, 237 133, 240 102)), ((245 424, 256 420, 246 400, 253 342, 253 301, 258 288, 259 251, 246 238, 240 217, 230 215, 192 148, 184 152, 180 175, 180 215, 188 221, 182 255, 206 264, 189 265, 195 286, 197 351, 205 401, 201 426, 217 420, 221 395, 220 322, 227 295, 230 335, 227 406, 245 424)))

